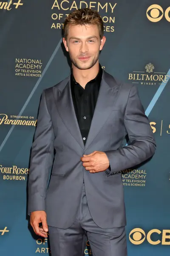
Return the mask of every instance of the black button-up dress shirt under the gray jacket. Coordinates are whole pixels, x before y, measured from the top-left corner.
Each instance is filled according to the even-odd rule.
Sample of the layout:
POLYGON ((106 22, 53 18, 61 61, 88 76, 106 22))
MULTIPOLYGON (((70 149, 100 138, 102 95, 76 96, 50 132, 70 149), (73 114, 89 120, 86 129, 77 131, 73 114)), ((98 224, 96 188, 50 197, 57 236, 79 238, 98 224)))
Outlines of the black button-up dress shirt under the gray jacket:
POLYGON ((102 73, 102 67, 99 64, 99 72, 97 76, 89 81, 85 85, 84 89, 76 82, 71 70, 71 94, 84 145, 91 127, 91 120, 94 115, 94 109, 96 107, 100 83, 102 80, 102 73))

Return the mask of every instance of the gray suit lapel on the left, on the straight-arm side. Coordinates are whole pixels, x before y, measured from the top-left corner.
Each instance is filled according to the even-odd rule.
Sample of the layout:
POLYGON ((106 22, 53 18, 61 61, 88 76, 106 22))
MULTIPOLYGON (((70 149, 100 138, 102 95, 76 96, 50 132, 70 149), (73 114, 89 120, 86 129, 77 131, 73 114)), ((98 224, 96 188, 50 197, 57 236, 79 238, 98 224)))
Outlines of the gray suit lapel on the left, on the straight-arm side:
POLYGON ((74 111, 74 105, 71 96, 70 78, 68 79, 67 84, 65 85, 62 91, 57 90, 57 88, 55 88, 54 98, 62 122, 65 124, 68 131, 77 141, 77 143, 79 143, 80 147, 84 149, 84 143, 79 129, 79 124, 77 122, 77 116, 74 111))

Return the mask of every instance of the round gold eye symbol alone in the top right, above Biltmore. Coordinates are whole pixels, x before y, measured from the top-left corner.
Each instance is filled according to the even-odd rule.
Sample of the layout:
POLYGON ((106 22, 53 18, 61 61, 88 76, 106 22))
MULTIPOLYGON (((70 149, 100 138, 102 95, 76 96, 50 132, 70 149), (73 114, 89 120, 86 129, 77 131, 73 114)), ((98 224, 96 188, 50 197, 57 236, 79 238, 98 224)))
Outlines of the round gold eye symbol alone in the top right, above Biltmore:
POLYGON ((151 5, 146 12, 148 20, 158 22, 164 15, 164 10, 158 4, 151 5))

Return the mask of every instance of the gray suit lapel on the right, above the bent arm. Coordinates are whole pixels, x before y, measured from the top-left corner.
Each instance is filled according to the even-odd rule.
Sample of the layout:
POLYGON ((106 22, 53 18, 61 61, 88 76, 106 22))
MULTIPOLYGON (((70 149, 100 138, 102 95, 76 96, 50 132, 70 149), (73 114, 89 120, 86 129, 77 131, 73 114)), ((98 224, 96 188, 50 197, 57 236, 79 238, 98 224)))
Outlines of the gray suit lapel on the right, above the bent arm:
POLYGON ((91 145, 103 125, 107 121, 118 96, 118 84, 112 76, 103 70, 99 96, 96 102, 91 128, 85 144, 85 150, 91 145))

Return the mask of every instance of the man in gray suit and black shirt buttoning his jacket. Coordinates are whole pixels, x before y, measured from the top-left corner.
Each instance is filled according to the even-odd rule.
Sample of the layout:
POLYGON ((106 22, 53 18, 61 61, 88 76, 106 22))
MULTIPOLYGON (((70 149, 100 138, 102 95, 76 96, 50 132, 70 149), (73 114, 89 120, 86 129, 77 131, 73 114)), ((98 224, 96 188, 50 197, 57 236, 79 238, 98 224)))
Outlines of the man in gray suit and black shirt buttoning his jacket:
POLYGON ((49 230, 52 256, 82 255, 86 236, 94 256, 127 256, 121 171, 156 149, 135 85, 116 81, 99 64, 105 40, 98 12, 72 12, 63 38, 71 74, 42 92, 28 214, 36 234, 47 237, 49 230))

